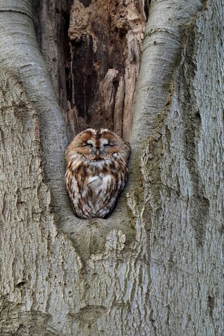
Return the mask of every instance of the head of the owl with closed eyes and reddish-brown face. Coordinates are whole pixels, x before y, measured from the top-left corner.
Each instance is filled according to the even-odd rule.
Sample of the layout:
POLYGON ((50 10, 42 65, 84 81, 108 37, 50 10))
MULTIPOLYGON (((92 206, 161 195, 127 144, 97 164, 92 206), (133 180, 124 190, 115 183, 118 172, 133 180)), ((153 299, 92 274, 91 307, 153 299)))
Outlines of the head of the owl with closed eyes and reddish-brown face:
POLYGON ((122 155, 128 161, 130 145, 118 134, 107 129, 87 129, 75 136, 68 147, 74 154, 81 154, 90 161, 109 159, 122 155))

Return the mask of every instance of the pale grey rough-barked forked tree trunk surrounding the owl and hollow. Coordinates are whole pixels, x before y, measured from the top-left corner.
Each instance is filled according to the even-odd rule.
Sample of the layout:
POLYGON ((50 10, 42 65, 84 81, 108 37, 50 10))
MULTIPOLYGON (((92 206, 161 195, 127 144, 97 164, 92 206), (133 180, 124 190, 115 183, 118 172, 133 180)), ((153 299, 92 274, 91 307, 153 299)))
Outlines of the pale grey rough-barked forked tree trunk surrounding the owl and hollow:
MULTIPOLYGON (((90 2, 82 1, 85 8, 90 2)), ((66 6, 65 31, 72 3, 58 3, 66 6)), ((31 0, 0 0, 0 335, 224 334, 223 20, 220 0, 151 1, 139 80, 131 86, 129 183, 107 220, 87 221, 75 218, 63 182, 64 149, 83 120, 77 83, 70 101, 69 75, 57 62, 77 52, 77 41, 68 40, 71 49, 58 52, 57 65, 47 60, 52 75, 59 67, 53 82, 64 115, 76 113, 67 135, 31 0)), ((95 34, 90 22, 84 44, 95 34)), ((57 42, 52 48, 59 50, 57 42)), ((109 75, 120 71, 118 84, 101 95, 103 122, 115 127, 117 94, 129 81, 126 68, 108 64, 97 75, 99 90, 107 67, 109 75)), ((88 111, 86 125, 96 125, 88 111)))

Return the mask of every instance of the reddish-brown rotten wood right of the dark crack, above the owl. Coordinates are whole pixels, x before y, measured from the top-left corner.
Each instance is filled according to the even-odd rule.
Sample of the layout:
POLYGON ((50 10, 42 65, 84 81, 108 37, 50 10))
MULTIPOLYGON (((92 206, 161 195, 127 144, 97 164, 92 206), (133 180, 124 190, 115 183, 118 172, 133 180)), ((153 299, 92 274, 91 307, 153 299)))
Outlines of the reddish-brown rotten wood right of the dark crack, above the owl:
POLYGON ((74 1, 69 27, 72 106, 81 130, 105 127, 129 138, 144 7, 144 0, 93 0, 88 6, 74 1))

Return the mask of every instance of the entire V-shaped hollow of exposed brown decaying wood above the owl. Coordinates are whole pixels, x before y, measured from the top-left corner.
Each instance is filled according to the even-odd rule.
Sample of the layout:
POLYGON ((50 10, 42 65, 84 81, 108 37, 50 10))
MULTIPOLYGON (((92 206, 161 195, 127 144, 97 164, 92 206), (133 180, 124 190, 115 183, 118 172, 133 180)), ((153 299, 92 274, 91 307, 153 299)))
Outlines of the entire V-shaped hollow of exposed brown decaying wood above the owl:
POLYGON ((109 128, 129 138, 148 2, 33 4, 38 42, 70 140, 88 127, 109 128))

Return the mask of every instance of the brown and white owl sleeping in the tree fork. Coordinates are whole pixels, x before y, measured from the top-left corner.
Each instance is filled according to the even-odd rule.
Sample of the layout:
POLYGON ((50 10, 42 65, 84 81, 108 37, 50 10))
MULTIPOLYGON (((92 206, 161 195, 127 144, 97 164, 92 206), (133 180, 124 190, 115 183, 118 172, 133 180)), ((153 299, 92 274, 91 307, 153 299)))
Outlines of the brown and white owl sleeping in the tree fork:
POLYGON ((65 183, 75 215, 105 218, 128 178, 131 148, 107 129, 82 131, 65 151, 65 183))

